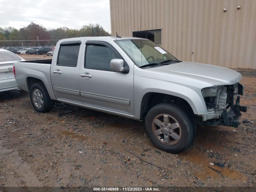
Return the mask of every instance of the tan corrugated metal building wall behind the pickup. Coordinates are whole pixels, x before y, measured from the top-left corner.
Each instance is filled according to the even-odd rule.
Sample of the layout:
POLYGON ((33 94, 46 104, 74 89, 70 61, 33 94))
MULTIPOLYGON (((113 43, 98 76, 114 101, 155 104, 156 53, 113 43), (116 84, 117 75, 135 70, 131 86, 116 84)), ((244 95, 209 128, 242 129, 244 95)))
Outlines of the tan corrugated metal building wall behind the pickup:
POLYGON ((256 0, 110 0, 110 16, 112 36, 132 36, 141 18, 180 60, 256 68, 256 0))

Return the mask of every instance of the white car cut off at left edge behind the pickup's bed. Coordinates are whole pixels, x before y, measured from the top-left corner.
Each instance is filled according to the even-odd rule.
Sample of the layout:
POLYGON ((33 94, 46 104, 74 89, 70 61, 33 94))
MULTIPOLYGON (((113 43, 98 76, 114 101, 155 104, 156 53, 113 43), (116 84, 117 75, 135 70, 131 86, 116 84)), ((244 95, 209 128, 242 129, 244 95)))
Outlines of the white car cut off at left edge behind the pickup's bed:
POLYGON ((17 89, 13 74, 13 63, 17 61, 25 60, 8 50, 0 49, 0 92, 17 89))

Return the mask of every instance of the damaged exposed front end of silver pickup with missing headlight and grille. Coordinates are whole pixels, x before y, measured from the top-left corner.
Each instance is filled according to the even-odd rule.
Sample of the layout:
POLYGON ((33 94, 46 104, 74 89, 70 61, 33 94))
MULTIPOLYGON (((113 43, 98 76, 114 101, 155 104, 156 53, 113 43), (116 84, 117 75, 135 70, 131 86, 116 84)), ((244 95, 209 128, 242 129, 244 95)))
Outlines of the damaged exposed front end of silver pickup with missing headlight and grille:
POLYGON ((247 111, 246 106, 240 106, 239 95, 243 94, 244 86, 240 83, 202 89, 208 114, 201 115, 198 123, 238 127, 240 111, 247 111))

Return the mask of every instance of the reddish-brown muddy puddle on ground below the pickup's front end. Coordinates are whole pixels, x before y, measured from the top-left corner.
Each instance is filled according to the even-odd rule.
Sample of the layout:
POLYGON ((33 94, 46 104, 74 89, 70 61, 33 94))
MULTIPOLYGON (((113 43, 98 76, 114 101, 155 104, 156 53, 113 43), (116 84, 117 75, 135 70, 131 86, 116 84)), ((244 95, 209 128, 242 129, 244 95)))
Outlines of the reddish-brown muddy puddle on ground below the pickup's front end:
POLYGON ((183 152, 179 154, 179 156, 187 160, 190 160, 193 164, 197 164, 202 168, 203 172, 194 173, 195 176, 200 179, 206 179, 207 177, 216 178, 225 176, 232 179, 244 180, 244 175, 240 172, 231 170, 229 168, 220 168, 216 165, 210 166, 209 163, 213 162, 212 160, 208 159, 206 156, 203 156, 202 154, 194 152, 193 150, 183 152))

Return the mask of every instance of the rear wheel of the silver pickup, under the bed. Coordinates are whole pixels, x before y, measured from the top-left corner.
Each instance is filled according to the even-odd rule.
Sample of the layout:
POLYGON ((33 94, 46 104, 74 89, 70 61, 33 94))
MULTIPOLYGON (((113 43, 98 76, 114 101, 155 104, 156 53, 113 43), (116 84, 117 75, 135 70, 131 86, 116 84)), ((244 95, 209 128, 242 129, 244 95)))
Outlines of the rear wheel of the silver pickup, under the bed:
POLYGON ((42 82, 35 83, 31 86, 30 101, 34 109, 42 113, 52 110, 54 104, 42 82))

